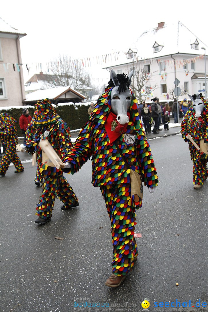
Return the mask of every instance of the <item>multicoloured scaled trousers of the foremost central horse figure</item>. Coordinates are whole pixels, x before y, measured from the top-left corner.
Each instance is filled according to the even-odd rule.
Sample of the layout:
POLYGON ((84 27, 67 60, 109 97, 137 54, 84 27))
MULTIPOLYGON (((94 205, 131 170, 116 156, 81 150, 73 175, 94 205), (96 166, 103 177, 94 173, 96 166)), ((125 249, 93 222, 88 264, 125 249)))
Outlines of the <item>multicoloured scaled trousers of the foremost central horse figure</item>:
POLYGON ((115 275, 127 274, 138 255, 134 238, 134 225, 137 224, 135 207, 131 198, 129 175, 124 183, 100 187, 111 222, 113 243, 112 268, 115 275))

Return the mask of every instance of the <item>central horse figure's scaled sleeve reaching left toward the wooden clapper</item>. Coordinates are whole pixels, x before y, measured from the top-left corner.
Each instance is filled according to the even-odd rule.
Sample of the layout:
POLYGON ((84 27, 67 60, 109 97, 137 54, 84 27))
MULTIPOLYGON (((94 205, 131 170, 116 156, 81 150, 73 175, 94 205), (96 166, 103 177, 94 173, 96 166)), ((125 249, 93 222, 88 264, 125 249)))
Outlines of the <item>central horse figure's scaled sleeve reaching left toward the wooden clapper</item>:
POLYGON ((91 139, 89 136, 90 127, 89 122, 85 124, 85 126, 81 129, 78 138, 76 139, 75 143, 72 144, 71 148, 62 158, 63 162, 70 162, 71 169, 64 170, 67 173, 74 174, 75 172, 79 171, 80 168, 86 163, 86 161, 92 155, 91 149, 91 139))

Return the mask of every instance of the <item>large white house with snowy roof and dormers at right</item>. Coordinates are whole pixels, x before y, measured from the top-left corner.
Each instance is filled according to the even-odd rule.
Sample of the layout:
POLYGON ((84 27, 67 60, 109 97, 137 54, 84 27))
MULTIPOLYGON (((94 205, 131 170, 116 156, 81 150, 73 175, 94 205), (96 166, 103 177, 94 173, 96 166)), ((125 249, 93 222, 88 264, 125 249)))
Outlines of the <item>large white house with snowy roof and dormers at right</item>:
MULTIPOLYGON (((105 68, 113 68, 116 73, 128 73, 134 69, 132 84, 135 83, 135 69, 143 68, 148 76, 141 95, 147 101, 152 96, 157 96, 160 101, 171 100, 177 78, 180 81, 178 87, 184 93, 179 96, 182 100, 188 97, 188 93, 192 95, 205 89, 205 50, 202 47, 208 51, 208 46, 181 22, 167 25, 161 22, 141 34, 126 55, 123 53, 105 68), (156 87, 152 90, 154 85, 156 87)), ((208 58, 206 68, 208 70, 208 58)))

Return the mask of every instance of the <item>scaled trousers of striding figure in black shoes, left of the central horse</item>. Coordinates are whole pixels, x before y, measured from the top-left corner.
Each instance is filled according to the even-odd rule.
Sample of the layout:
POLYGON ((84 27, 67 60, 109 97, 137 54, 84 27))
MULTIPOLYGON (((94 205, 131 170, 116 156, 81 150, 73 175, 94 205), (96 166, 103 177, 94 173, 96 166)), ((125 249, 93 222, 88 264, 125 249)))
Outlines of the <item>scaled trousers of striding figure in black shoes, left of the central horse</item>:
POLYGON ((43 219, 51 217, 56 196, 64 203, 64 205, 72 205, 78 201, 70 184, 63 177, 63 171, 56 167, 42 165, 40 173, 43 178, 42 194, 37 204, 36 215, 43 219))

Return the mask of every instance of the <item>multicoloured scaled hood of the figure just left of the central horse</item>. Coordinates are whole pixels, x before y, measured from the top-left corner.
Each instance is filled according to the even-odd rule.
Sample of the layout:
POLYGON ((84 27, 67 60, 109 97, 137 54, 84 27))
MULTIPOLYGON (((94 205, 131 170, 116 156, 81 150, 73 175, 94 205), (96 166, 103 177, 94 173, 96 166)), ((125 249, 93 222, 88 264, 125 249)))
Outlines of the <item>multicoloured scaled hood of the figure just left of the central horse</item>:
POLYGON ((48 98, 45 100, 38 100, 35 108, 36 113, 33 116, 33 126, 52 124, 59 118, 59 115, 56 113, 48 98))

